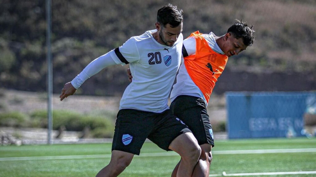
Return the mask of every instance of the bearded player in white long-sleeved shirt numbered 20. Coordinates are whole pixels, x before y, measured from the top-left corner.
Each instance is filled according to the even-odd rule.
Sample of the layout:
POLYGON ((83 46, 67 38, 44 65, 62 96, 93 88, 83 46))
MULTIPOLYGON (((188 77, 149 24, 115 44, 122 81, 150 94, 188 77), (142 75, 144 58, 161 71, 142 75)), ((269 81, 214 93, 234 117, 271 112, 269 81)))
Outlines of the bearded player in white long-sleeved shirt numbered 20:
POLYGON ((187 126, 173 116, 168 96, 179 69, 183 11, 168 4, 157 12, 156 30, 131 37, 121 47, 92 61, 62 89, 60 100, 76 92, 89 77, 106 66, 130 63, 133 82, 125 89, 119 106, 110 163, 97 177, 118 176, 139 155, 146 138, 160 148, 181 156, 178 177, 189 177, 201 148, 187 126))

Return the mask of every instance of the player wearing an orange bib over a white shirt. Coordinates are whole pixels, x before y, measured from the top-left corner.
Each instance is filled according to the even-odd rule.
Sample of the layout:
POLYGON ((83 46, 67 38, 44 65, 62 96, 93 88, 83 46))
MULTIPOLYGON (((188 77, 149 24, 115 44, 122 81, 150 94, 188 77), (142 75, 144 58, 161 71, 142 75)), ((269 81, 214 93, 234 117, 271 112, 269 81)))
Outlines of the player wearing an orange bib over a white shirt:
MULTIPOLYGON (((183 41, 183 63, 170 94, 170 110, 190 128, 201 146, 202 153, 193 177, 209 176, 214 138, 206 107, 215 83, 228 57, 239 54, 253 42, 254 30, 242 21, 237 21, 221 37, 213 32, 201 34, 196 31, 183 41)), ((128 74, 134 82, 129 70, 128 74)), ((178 166, 172 177, 176 176, 177 170, 178 166)))

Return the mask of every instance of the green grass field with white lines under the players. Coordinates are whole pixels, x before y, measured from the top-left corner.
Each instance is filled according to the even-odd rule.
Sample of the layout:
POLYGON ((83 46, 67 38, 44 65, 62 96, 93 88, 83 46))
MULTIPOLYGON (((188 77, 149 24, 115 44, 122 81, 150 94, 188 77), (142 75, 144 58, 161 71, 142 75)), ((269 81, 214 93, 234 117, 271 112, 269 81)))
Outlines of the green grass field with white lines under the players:
MULTIPOLYGON (((216 141, 210 176, 316 171, 316 138, 216 141), (289 149, 295 149, 295 152, 289 149), (246 150, 246 151, 245 151, 246 150), (261 150, 261 151, 251 151, 261 150), (305 152, 304 152, 305 151, 305 152)), ((0 177, 95 176, 110 161, 111 144, 0 146, 0 177)), ((168 177, 180 157, 145 143, 120 176, 168 177)), ((316 174, 251 175, 313 177, 316 174)))

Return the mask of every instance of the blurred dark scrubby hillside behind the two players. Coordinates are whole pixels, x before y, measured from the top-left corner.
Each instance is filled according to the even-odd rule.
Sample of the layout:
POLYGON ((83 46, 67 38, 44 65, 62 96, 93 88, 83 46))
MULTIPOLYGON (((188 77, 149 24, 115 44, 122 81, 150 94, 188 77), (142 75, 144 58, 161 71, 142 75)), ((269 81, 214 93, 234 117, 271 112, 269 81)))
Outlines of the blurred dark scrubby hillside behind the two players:
MULTIPOLYGON (((154 29, 157 10, 168 2, 185 12, 184 37, 197 30, 221 36, 235 19, 254 25, 255 43, 229 59, 215 93, 316 89, 313 0, 53 0, 54 93, 98 56, 154 29)), ((42 0, 0 0, 0 87, 46 90, 45 14, 42 0)), ((122 94, 127 67, 105 68, 77 94, 122 94)))

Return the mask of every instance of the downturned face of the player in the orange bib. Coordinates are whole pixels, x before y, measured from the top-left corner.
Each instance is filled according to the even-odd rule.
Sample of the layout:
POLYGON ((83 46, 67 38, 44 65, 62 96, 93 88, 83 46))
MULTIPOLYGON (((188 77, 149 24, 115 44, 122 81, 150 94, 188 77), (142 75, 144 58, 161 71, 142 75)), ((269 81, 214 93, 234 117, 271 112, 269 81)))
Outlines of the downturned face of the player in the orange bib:
POLYGON ((247 46, 242 41, 242 38, 236 39, 234 35, 226 33, 224 37, 224 45, 222 51, 226 56, 231 57, 233 55, 238 55, 243 50, 246 50, 247 46))

